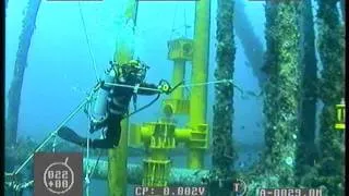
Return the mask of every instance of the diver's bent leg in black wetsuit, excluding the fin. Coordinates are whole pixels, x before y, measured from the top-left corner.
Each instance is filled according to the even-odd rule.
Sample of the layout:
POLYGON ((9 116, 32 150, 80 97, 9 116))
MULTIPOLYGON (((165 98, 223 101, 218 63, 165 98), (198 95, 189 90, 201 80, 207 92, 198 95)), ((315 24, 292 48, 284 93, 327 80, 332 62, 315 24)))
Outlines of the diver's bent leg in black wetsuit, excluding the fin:
POLYGON ((109 121, 107 126, 106 138, 92 140, 93 148, 113 148, 119 145, 121 135, 121 120, 109 121))

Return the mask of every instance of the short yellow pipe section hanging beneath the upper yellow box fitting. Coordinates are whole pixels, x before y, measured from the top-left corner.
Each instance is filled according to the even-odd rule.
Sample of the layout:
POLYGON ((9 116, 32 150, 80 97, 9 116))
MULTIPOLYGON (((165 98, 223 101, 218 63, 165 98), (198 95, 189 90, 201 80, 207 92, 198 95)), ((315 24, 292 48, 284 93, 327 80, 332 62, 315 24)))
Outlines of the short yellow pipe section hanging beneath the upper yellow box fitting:
MULTIPOLYGON (((174 60, 173 61, 173 77, 172 85, 176 85, 184 79, 185 74, 185 61, 174 60)), ((172 99, 183 99, 183 88, 177 88, 171 94, 172 99)))

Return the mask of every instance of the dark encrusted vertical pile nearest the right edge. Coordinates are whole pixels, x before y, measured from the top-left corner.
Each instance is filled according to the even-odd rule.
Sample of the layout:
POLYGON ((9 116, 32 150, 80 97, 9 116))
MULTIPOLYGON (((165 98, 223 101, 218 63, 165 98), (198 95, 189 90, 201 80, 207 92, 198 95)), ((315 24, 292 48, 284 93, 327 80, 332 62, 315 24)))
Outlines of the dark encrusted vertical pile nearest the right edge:
MULTIPOLYGON (((344 97, 344 28, 340 24, 338 0, 318 0, 317 48, 323 65, 320 81, 320 98, 324 103, 320 118, 320 146, 317 184, 325 185, 329 195, 341 195, 344 184, 340 148, 344 132, 335 130, 336 110, 344 97)), ((315 185, 317 185, 315 184, 315 185)))

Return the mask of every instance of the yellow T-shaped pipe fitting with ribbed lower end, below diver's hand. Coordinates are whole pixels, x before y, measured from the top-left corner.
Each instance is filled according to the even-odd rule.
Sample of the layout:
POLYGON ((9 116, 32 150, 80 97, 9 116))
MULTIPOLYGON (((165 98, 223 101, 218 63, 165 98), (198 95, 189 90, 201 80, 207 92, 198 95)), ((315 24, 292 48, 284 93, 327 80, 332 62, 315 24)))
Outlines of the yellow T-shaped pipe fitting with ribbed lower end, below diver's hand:
MULTIPOLYGON (((169 151, 179 143, 184 143, 189 148, 206 149, 208 145, 207 125, 202 124, 196 130, 176 128, 173 123, 151 122, 142 126, 131 126, 133 134, 140 134, 145 148, 148 151, 143 160, 144 186, 167 186, 171 161, 169 151), (136 130, 136 131, 135 131, 136 130)), ((131 130, 132 130, 131 128, 131 130)))

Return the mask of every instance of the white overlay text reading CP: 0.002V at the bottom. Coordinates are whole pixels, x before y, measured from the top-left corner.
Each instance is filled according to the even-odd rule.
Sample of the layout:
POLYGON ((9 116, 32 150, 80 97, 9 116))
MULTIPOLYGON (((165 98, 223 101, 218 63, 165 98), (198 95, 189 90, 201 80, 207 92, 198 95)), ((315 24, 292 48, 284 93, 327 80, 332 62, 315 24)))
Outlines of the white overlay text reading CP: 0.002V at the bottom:
POLYGON ((134 188, 135 196, 203 196, 206 194, 207 189, 205 186, 136 186, 134 188))

